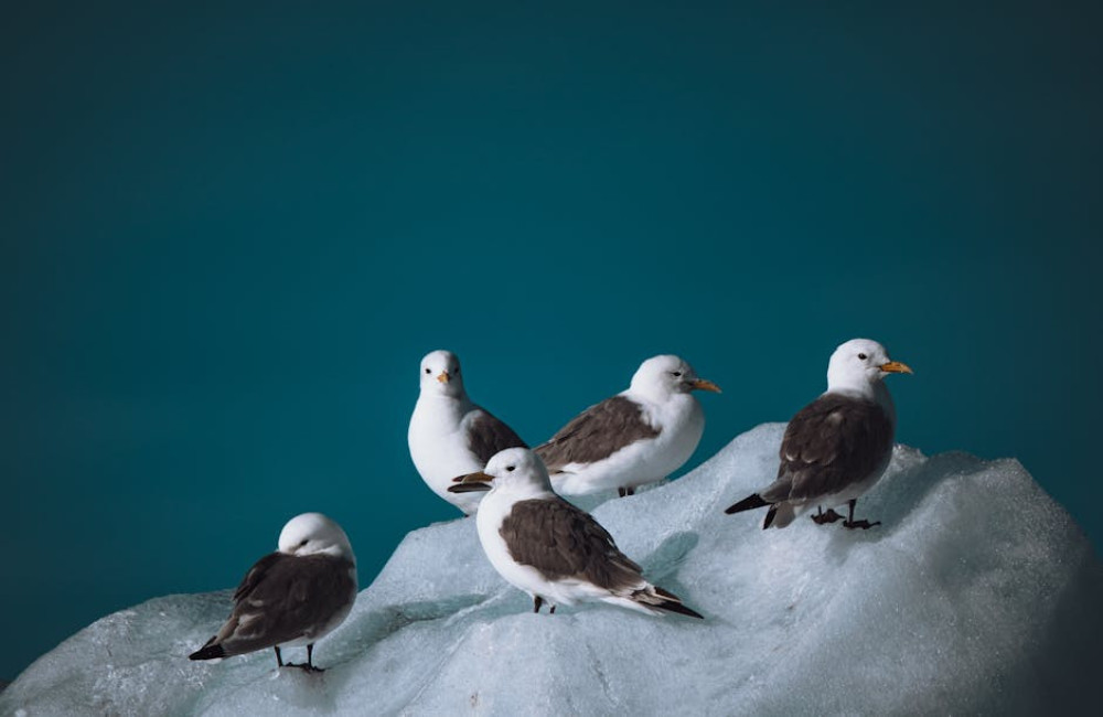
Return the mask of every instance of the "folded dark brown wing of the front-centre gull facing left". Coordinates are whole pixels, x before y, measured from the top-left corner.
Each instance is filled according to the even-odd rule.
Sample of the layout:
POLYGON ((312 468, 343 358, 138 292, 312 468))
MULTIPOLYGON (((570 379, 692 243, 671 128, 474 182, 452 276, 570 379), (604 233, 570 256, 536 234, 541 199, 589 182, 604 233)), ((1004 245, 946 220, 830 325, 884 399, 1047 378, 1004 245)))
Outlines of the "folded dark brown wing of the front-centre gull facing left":
POLYGON ((643 581, 641 568, 621 553, 593 517, 561 500, 514 503, 499 528, 513 559, 546 578, 580 578, 614 592, 643 581))

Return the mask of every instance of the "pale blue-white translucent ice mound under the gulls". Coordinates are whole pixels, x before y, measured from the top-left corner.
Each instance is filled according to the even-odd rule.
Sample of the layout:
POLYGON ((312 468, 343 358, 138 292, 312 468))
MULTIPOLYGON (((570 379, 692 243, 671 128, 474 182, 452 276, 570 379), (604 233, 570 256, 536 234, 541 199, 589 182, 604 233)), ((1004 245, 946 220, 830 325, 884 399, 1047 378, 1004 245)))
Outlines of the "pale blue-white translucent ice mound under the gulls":
POLYGON ((777 471, 783 425, 595 515, 649 578, 706 616, 593 604, 533 614, 474 522, 410 533, 318 644, 190 662, 229 591, 108 616, 0 693, 3 715, 1051 713, 1103 677, 1103 569, 1014 460, 900 447, 859 502, 867 532, 724 507, 777 471), (285 656, 298 662, 299 651, 285 656))

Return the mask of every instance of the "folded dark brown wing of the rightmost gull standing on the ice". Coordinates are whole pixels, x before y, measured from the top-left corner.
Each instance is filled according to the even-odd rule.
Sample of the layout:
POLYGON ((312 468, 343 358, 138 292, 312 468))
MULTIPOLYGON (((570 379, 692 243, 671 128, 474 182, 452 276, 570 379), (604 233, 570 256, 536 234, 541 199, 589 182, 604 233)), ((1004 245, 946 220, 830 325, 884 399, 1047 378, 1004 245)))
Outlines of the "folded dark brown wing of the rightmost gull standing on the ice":
POLYGON ((824 395, 789 421, 770 503, 814 500, 868 478, 892 451, 892 421, 871 400, 824 395))

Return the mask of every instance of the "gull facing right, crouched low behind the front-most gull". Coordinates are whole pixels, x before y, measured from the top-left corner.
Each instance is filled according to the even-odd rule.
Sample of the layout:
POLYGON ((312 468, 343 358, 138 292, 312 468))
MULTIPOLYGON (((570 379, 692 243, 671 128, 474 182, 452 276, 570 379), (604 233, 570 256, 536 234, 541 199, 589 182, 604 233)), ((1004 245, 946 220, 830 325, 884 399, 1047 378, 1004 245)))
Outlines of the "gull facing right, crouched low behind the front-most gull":
POLYGON ((700 441, 705 414, 689 393, 720 393, 677 356, 654 356, 628 390, 590 406, 536 448, 555 490, 582 495, 615 488, 621 497, 682 467, 700 441))

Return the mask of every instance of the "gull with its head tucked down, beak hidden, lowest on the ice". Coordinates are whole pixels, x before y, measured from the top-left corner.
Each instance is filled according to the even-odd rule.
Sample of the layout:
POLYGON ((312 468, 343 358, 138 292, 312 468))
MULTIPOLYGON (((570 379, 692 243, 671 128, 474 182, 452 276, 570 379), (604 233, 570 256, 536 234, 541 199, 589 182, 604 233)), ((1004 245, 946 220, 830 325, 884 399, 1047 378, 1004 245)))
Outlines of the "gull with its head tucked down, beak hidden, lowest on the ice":
POLYGON ((321 513, 288 521, 279 549, 257 560, 234 592, 234 611, 218 633, 192 660, 240 655, 280 648, 307 646, 307 662, 289 667, 321 672, 314 666, 314 643, 341 624, 356 600, 356 557, 341 526, 321 513))

